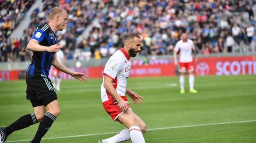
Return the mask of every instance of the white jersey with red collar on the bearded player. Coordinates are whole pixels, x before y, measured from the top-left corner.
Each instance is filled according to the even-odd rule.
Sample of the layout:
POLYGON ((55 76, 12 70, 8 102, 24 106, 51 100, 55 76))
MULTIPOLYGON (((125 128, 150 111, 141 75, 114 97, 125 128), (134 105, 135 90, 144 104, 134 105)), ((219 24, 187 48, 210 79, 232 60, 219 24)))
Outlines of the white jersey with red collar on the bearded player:
MULTIPOLYGON (((121 48, 117 50, 107 61, 104 73, 103 73, 103 83, 104 76, 108 76, 114 80, 113 86, 119 96, 125 96, 127 80, 131 70, 131 60, 127 52, 121 48)), ((101 86, 101 97, 102 102, 110 100, 112 97, 106 91, 102 83, 101 86)), ((113 99, 113 98, 112 98, 113 99)))

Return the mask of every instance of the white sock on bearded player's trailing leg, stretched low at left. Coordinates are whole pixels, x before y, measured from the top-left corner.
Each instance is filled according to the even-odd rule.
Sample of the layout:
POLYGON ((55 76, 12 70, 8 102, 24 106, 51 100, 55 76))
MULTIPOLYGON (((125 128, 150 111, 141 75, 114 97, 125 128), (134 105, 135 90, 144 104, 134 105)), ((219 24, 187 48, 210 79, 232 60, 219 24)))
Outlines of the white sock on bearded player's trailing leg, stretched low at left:
POLYGON ((124 141, 128 141, 131 139, 130 133, 128 129, 124 129, 122 131, 120 131, 119 134, 106 139, 108 143, 121 143, 124 141))

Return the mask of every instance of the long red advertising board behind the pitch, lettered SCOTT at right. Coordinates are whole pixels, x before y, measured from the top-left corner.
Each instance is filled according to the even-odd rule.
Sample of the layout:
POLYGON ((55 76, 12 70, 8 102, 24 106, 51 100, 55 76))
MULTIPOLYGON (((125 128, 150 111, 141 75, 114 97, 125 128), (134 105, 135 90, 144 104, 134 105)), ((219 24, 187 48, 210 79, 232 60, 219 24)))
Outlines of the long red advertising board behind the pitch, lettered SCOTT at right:
MULTIPOLYGON (((84 72, 89 78, 102 78, 104 67, 82 67, 71 68, 73 71, 84 72)), ((206 75, 256 75, 256 61, 254 56, 234 56, 234 57, 205 57, 199 58, 194 63, 195 74, 206 75)), ((22 71, 0 71, 0 81, 18 80, 22 71)), ((24 73, 24 71, 23 71, 24 73)), ((49 71, 49 78, 52 76, 49 71)), ((175 66, 172 59, 150 60, 148 65, 144 65, 142 60, 133 60, 130 77, 149 76, 175 76, 175 66)), ((24 76, 23 76, 24 77, 24 76)), ((73 79, 65 73, 61 74, 62 79, 73 79)))

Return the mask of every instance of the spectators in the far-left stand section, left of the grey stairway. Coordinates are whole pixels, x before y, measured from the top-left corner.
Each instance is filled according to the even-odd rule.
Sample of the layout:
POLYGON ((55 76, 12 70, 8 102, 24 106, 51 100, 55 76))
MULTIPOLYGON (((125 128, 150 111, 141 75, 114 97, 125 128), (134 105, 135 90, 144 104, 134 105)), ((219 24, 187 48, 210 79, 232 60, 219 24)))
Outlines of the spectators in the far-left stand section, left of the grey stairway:
POLYGON ((34 0, 0 0, 0 61, 19 54, 20 40, 7 42, 7 39, 33 3, 34 0))

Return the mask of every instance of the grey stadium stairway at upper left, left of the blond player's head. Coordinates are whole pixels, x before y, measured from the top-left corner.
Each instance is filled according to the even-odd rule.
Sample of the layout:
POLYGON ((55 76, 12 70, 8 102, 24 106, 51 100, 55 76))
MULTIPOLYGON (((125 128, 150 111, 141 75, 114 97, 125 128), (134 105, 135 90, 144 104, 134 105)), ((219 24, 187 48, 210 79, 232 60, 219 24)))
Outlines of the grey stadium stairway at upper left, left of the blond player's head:
POLYGON ((22 37, 23 31, 24 29, 27 29, 27 26, 30 24, 31 22, 31 14, 32 12, 35 10, 35 8, 40 8, 41 6, 44 5, 42 0, 35 0, 35 3, 31 6, 31 8, 28 10, 28 12, 26 13, 25 18, 21 21, 21 23, 18 25, 18 27, 16 27, 12 34, 10 35, 10 37, 8 38, 8 40, 10 41, 13 38, 18 38, 20 39, 22 37))

